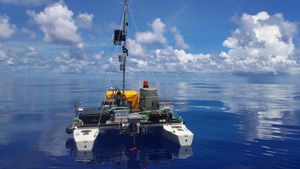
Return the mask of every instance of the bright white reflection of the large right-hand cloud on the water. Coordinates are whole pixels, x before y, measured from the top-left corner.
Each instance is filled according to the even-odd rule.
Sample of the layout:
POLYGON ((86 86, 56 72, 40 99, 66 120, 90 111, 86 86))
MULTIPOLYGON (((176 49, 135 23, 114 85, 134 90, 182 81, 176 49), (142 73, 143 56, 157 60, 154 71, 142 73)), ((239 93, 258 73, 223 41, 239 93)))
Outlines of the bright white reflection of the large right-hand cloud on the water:
POLYGON ((283 126, 299 124, 295 113, 299 101, 291 97, 295 91, 294 85, 243 84, 238 90, 227 86, 222 93, 230 112, 241 116, 246 139, 269 140, 290 139, 283 126))

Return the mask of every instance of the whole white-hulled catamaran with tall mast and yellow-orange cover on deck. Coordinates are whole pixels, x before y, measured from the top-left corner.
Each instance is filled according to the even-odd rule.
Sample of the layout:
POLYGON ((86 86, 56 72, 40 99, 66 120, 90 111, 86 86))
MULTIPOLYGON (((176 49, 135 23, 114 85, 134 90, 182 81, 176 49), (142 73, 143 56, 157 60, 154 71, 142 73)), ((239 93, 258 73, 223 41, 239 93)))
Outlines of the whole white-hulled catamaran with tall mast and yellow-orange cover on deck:
POLYGON ((127 0, 124 0, 122 15, 122 28, 116 29, 113 36, 113 44, 122 46, 118 58, 122 88, 107 90, 104 101, 97 108, 76 107, 75 118, 66 132, 73 133, 78 151, 91 151, 96 139, 101 142, 101 135, 107 132, 136 136, 151 131, 179 146, 191 146, 194 134, 182 118, 174 115, 173 103, 158 98, 157 88, 150 88, 145 80, 139 93, 126 89, 127 0))

